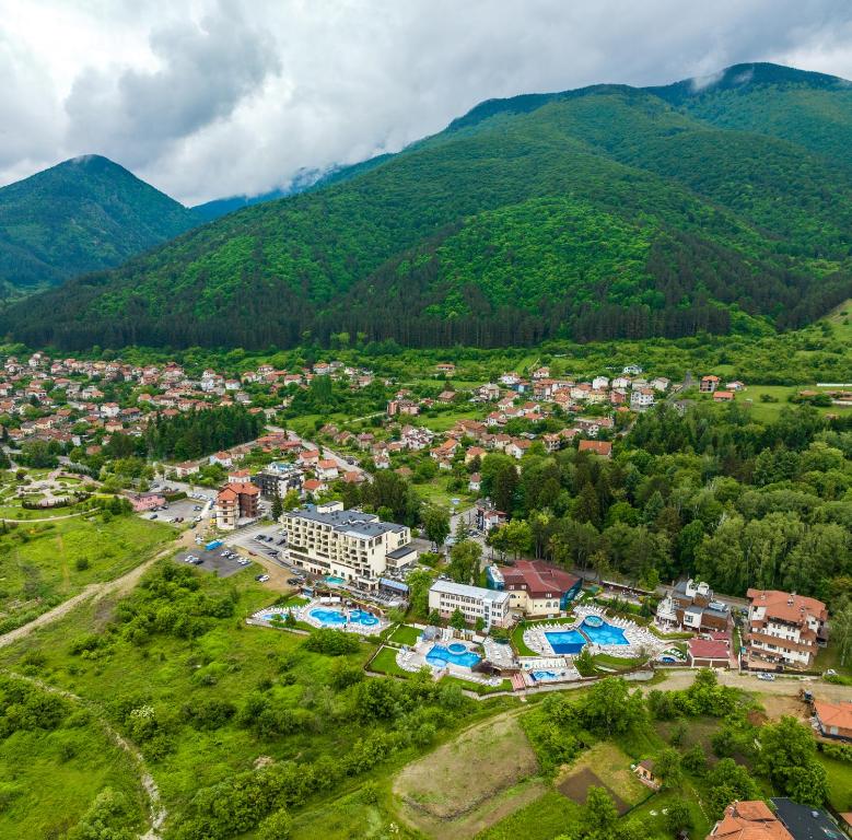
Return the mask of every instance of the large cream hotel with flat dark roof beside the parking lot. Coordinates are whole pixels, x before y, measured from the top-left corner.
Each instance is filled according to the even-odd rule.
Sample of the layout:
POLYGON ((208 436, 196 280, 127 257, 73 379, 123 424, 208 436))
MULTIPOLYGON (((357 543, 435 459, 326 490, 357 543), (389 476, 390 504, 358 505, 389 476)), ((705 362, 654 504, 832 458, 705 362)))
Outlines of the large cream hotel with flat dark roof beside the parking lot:
POLYGON ((285 511, 290 562, 312 574, 334 575, 369 590, 387 569, 417 561, 411 530, 375 514, 346 510, 341 502, 285 511))

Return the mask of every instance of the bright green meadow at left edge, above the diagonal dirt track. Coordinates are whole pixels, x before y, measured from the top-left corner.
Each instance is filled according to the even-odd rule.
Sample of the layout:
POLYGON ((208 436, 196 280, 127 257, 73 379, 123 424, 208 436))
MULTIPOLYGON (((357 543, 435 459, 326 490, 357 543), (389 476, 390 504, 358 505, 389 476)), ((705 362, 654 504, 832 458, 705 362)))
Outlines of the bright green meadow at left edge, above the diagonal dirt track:
POLYGON ((137 516, 22 524, 0 535, 0 630, 32 620, 90 583, 120 576, 174 536, 167 525, 137 516))

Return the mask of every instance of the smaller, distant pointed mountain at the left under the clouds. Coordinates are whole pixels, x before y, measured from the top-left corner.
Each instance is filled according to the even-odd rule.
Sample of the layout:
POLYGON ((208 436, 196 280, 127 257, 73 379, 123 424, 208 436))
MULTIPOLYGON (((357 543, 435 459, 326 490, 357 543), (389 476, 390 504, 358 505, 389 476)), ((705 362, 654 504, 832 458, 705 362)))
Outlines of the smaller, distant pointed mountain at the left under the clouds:
POLYGON ((113 161, 74 158, 0 188, 0 283, 61 283, 195 224, 189 210, 113 161))

